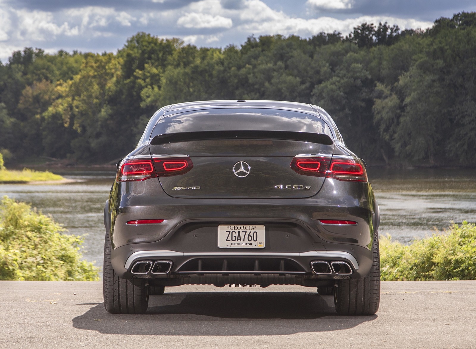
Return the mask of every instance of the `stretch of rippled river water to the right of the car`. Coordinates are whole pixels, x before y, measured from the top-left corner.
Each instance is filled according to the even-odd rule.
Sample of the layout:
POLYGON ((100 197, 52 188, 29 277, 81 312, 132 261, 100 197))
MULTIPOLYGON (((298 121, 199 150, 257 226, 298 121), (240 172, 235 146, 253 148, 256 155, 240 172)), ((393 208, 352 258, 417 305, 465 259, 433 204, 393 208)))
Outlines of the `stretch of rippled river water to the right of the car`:
POLYGON ((476 222, 474 170, 372 170, 369 178, 380 205, 380 234, 410 242, 443 230, 452 221, 476 222))

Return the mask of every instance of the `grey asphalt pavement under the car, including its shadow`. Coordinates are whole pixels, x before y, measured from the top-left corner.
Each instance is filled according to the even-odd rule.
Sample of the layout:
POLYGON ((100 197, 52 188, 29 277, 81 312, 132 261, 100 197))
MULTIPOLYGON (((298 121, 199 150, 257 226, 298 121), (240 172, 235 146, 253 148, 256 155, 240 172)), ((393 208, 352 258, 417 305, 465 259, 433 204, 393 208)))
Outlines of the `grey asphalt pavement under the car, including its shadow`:
POLYGON ((0 348, 476 348, 476 281, 382 282, 373 316, 301 286, 179 286, 145 315, 104 310, 102 283, 0 281, 0 348))

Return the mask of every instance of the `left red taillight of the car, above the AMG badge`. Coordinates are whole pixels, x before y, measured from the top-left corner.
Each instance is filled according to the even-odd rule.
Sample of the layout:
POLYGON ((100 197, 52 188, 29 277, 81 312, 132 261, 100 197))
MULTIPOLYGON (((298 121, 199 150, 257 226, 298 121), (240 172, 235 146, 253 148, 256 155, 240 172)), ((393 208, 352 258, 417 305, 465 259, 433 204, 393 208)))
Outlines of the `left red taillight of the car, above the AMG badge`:
POLYGON ((165 177, 184 174, 193 167, 188 156, 145 157, 122 160, 116 176, 117 182, 143 181, 153 177, 165 177))

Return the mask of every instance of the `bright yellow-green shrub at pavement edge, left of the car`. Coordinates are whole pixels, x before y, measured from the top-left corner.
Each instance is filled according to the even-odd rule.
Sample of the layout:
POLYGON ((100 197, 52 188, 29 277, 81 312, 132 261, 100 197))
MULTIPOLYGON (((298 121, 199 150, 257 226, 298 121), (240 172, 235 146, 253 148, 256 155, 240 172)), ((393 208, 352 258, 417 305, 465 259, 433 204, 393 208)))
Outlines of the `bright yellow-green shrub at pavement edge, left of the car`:
POLYGON ((30 205, 4 196, 0 204, 0 280, 98 280, 98 268, 82 261, 82 237, 30 205))

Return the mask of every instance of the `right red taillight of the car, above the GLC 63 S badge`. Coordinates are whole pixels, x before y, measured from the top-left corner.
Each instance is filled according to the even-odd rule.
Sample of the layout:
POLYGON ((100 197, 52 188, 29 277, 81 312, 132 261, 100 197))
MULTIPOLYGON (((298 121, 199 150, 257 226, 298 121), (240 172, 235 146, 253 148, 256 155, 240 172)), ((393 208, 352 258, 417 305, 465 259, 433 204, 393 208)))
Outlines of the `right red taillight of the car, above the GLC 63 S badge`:
POLYGON ((298 174, 332 177, 339 181, 367 182, 367 172, 361 160, 326 155, 297 155, 291 168, 298 174))

